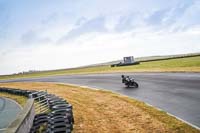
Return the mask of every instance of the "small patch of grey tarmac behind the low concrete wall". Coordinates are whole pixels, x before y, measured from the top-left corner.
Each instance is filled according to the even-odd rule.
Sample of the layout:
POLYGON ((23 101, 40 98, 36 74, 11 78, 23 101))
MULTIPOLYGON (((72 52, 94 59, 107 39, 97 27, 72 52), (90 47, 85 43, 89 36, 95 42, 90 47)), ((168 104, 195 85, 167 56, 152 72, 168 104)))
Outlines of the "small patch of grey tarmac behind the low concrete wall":
POLYGON ((0 97, 0 133, 3 133, 20 111, 21 107, 16 102, 0 97))

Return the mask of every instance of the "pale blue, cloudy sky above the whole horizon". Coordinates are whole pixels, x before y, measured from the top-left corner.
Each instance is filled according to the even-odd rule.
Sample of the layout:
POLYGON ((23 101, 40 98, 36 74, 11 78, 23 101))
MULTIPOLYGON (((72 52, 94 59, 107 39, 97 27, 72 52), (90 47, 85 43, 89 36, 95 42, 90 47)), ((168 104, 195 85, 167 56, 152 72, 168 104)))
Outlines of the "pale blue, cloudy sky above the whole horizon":
POLYGON ((0 75, 200 52, 200 0, 0 0, 0 75))

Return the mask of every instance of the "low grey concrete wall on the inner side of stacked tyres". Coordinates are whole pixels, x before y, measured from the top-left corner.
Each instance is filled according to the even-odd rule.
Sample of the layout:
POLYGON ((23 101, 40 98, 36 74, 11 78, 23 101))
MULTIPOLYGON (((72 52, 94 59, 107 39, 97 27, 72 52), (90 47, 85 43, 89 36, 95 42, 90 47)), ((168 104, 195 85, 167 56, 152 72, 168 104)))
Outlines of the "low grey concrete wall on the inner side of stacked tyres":
POLYGON ((15 121, 13 121, 9 127, 6 129, 5 133, 28 133, 33 125, 33 120, 35 117, 34 100, 28 99, 23 110, 17 116, 15 121))

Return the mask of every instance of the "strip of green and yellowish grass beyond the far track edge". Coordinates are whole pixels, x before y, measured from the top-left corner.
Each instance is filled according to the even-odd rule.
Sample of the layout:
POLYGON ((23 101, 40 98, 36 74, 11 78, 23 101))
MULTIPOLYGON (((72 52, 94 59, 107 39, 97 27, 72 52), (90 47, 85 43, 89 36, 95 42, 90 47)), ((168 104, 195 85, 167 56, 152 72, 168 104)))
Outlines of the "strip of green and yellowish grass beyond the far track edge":
POLYGON ((32 78, 54 75, 111 73, 111 72, 200 72, 200 56, 167 59, 161 61, 142 62, 139 65, 110 67, 93 66, 86 68, 74 68, 63 70, 42 71, 27 74, 15 74, 0 76, 0 80, 11 78, 32 78))

